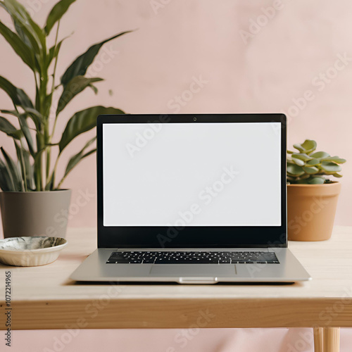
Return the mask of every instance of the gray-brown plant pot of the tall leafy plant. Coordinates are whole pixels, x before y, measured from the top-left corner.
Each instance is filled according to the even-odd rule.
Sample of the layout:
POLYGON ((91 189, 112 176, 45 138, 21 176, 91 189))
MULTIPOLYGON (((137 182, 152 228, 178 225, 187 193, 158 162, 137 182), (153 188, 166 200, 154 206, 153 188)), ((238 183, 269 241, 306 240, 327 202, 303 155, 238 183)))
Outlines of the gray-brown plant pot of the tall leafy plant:
POLYGON ((0 192, 4 237, 65 238, 71 190, 0 192))

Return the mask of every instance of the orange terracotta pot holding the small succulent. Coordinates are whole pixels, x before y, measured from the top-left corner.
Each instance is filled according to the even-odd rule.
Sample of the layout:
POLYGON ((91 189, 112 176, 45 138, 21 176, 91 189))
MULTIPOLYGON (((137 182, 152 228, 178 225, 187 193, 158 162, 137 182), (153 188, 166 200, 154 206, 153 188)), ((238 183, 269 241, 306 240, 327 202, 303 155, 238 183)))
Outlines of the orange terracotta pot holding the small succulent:
POLYGON ((291 241, 324 241, 334 226, 339 182, 287 185, 287 231, 291 241))

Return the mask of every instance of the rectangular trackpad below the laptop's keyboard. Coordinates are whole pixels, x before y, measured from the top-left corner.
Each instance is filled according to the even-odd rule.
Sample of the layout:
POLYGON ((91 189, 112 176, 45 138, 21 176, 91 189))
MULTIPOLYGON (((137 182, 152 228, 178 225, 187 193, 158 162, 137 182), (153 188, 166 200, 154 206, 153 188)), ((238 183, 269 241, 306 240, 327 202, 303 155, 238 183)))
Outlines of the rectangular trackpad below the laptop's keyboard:
POLYGON ((151 276, 156 277, 233 277, 236 265, 212 264, 158 264, 151 267, 151 276))

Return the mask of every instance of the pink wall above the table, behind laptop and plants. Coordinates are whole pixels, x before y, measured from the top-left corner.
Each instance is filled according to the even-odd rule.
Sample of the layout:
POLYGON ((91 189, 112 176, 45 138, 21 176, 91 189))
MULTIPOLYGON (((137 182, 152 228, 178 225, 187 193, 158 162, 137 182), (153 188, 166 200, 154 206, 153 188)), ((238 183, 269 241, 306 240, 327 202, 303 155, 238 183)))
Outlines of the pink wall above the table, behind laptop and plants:
MULTIPOLYGON (((39 23, 44 23, 56 3, 22 2, 39 23)), ((106 44, 106 54, 101 51, 90 72, 106 79, 96 84, 99 95, 87 89, 72 101, 59 128, 75 111, 96 104, 128 113, 284 112, 289 115, 289 146, 315 139, 321 149, 348 159, 336 223, 352 225, 348 206, 352 193, 351 1, 282 0, 276 10, 272 6, 279 3, 273 0, 102 0, 96 4, 77 1, 63 18, 60 37, 74 34, 63 44, 58 73, 94 42, 122 30, 137 30, 106 44), (341 70, 335 70, 339 56, 347 61, 337 63, 341 70), (189 88, 194 77, 206 81, 203 88, 184 106, 175 107, 173 99, 189 88), (311 91, 306 95, 309 100, 304 99, 306 91, 311 91), (294 107, 295 99, 301 108, 294 107)), ((8 22, 2 12, 0 17, 8 22)), ((34 94, 30 71, 2 38, 0 48, 0 74, 34 94)), ((3 92, 0 106, 11 108, 3 92)), ((65 152, 66 160, 87 139, 77 138, 65 152)), ((3 134, 1 144, 12 147, 3 134)), ((263 151, 258 153, 265 157, 263 151)), ((73 202, 79 190, 92 194, 87 206, 72 216, 71 226, 95 225, 95 182, 94 156, 66 180, 64 186, 74 191, 73 202)))

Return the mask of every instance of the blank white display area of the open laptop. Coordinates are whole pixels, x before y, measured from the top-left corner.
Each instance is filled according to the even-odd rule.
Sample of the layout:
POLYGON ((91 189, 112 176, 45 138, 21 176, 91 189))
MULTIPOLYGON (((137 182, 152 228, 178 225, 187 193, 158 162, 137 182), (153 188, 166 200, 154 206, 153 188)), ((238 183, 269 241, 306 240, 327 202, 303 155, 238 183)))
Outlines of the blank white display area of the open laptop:
POLYGON ((280 226, 279 122, 103 125, 104 226, 280 226))

